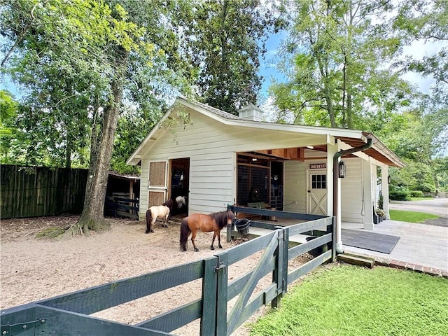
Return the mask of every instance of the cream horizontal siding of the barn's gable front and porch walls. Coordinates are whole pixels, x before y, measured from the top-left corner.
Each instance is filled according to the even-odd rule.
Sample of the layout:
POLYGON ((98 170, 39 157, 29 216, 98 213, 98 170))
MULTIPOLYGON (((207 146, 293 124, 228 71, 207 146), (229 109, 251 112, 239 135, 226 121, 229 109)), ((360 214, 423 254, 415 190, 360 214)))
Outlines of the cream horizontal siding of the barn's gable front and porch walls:
MULTIPOLYGON (((246 127, 228 126, 212 118, 190 111, 191 125, 179 125, 174 132, 165 131, 154 146, 144 153, 141 160, 141 216, 148 204, 148 162, 190 158, 189 212, 211 213, 223 211, 235 202, 235 169, 238 152, 273 148, 293 148, 307 144, 325 144, 326 135, 304 135, 277 130, 248 130, 246 127)), ((150 141, 151 142, 151 141, 150 141)), ((323 152, 307 151, 307 155, 324 156, 323 152)), ((347 162, 349 160, 344 160, 347 162)), ((321 160, 319 161, 321 162, 321 160)), ((309 161, 284 162, 283 204, 285 211, 307 212, 307 167, 309 161)), ((358 165, 359 166, 359 165, 358 165)), ((358 171, 358 166, 349 167, 358 171)), ((344 179, 349 181, 349 179, 344 179)), ((360 195, 353 197, 356 186, 342 190, 343 220, 360 218, 360 195), (344 202, 344 198, 349 202, 344 202), (353 198, 353 200, 351 200, 353 198), (347 212, 348 211, 348 212, 347 212)))

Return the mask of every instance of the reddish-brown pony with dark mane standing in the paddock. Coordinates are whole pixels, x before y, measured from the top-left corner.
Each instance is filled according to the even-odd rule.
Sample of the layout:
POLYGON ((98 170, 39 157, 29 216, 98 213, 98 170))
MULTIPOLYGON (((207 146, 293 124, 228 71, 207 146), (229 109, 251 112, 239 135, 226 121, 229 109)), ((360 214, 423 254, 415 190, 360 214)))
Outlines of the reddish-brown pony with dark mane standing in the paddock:
POLYGON ((214 232, 213 239, 211 240, 211 250, 214 250, 214 242, 216 236, 218 236, 218 247, 221 246, 221 230, 227 225, 232 225, 232 221, 235 218, 235 214, 230 211, 215 212, 214 214, 204 215, 204 214, 191 214, 190 216, 183 218, 181 223, 181 238, 179 242, 181 244, 181 251, 187 251, 187 239, 191 235, 191 242, 195 248, 195 252, 199 251, 196 247, 195 237, 197 231, 202 232, 214 232))

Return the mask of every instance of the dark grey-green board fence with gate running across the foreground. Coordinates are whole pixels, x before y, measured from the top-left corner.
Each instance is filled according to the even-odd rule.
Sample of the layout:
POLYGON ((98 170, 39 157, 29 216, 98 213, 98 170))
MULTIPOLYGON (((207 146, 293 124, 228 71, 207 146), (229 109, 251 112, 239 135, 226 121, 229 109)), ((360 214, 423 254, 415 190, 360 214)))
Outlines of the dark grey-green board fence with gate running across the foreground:
MULTIPOLYGON (((279 213, 281 211, 276 211, 277 216, 279 213)), ((332 228, 332 217, 277 227, 267 235, 229 248, 211 258, 5 309, 0 313, 1 335, 172 335, 170 332, 173 330, 198 318, 200 335, 230 335, 263 304, 279 304, 292 281, 323 262, 335 259, 332 228), (321 237, 288 247, 288 237, 322 226, 326 230, 321 232, 321 237), (300 267, 288 267, 288 260, 319 246, 323 247, 324 252, 300 267), (229 281, 230 265, 258 251, 263 251, 258 265, 238 279, 229 281), (258 281, 268 274, 272 274, 271 283, 254 292, 258 281), (200 299, 136 325, 90 316, 97 311, 197 279, 202 279, 200 299), (236 298, 235 303, 229 304, 233 298, 236 298)))

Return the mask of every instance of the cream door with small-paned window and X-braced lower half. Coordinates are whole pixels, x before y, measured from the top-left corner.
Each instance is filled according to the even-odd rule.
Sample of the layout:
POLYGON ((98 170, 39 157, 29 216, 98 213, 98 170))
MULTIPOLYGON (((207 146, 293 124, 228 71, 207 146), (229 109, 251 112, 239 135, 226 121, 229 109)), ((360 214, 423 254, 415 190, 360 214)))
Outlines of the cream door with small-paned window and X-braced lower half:
POLYGON ((327 172, 308 172, 308 214, 327 215, 327 172))

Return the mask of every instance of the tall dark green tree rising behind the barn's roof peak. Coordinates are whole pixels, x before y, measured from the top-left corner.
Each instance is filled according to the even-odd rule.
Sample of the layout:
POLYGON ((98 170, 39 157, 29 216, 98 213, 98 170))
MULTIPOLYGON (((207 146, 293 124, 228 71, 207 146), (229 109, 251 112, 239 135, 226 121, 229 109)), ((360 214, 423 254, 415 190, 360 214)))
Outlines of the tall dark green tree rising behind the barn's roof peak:
POLYGON ((248 103, 256 104, 260 57, 274 22, 258 0, 197 3, 186 47, 199 71, 197 99, 235 114, 248 103))

